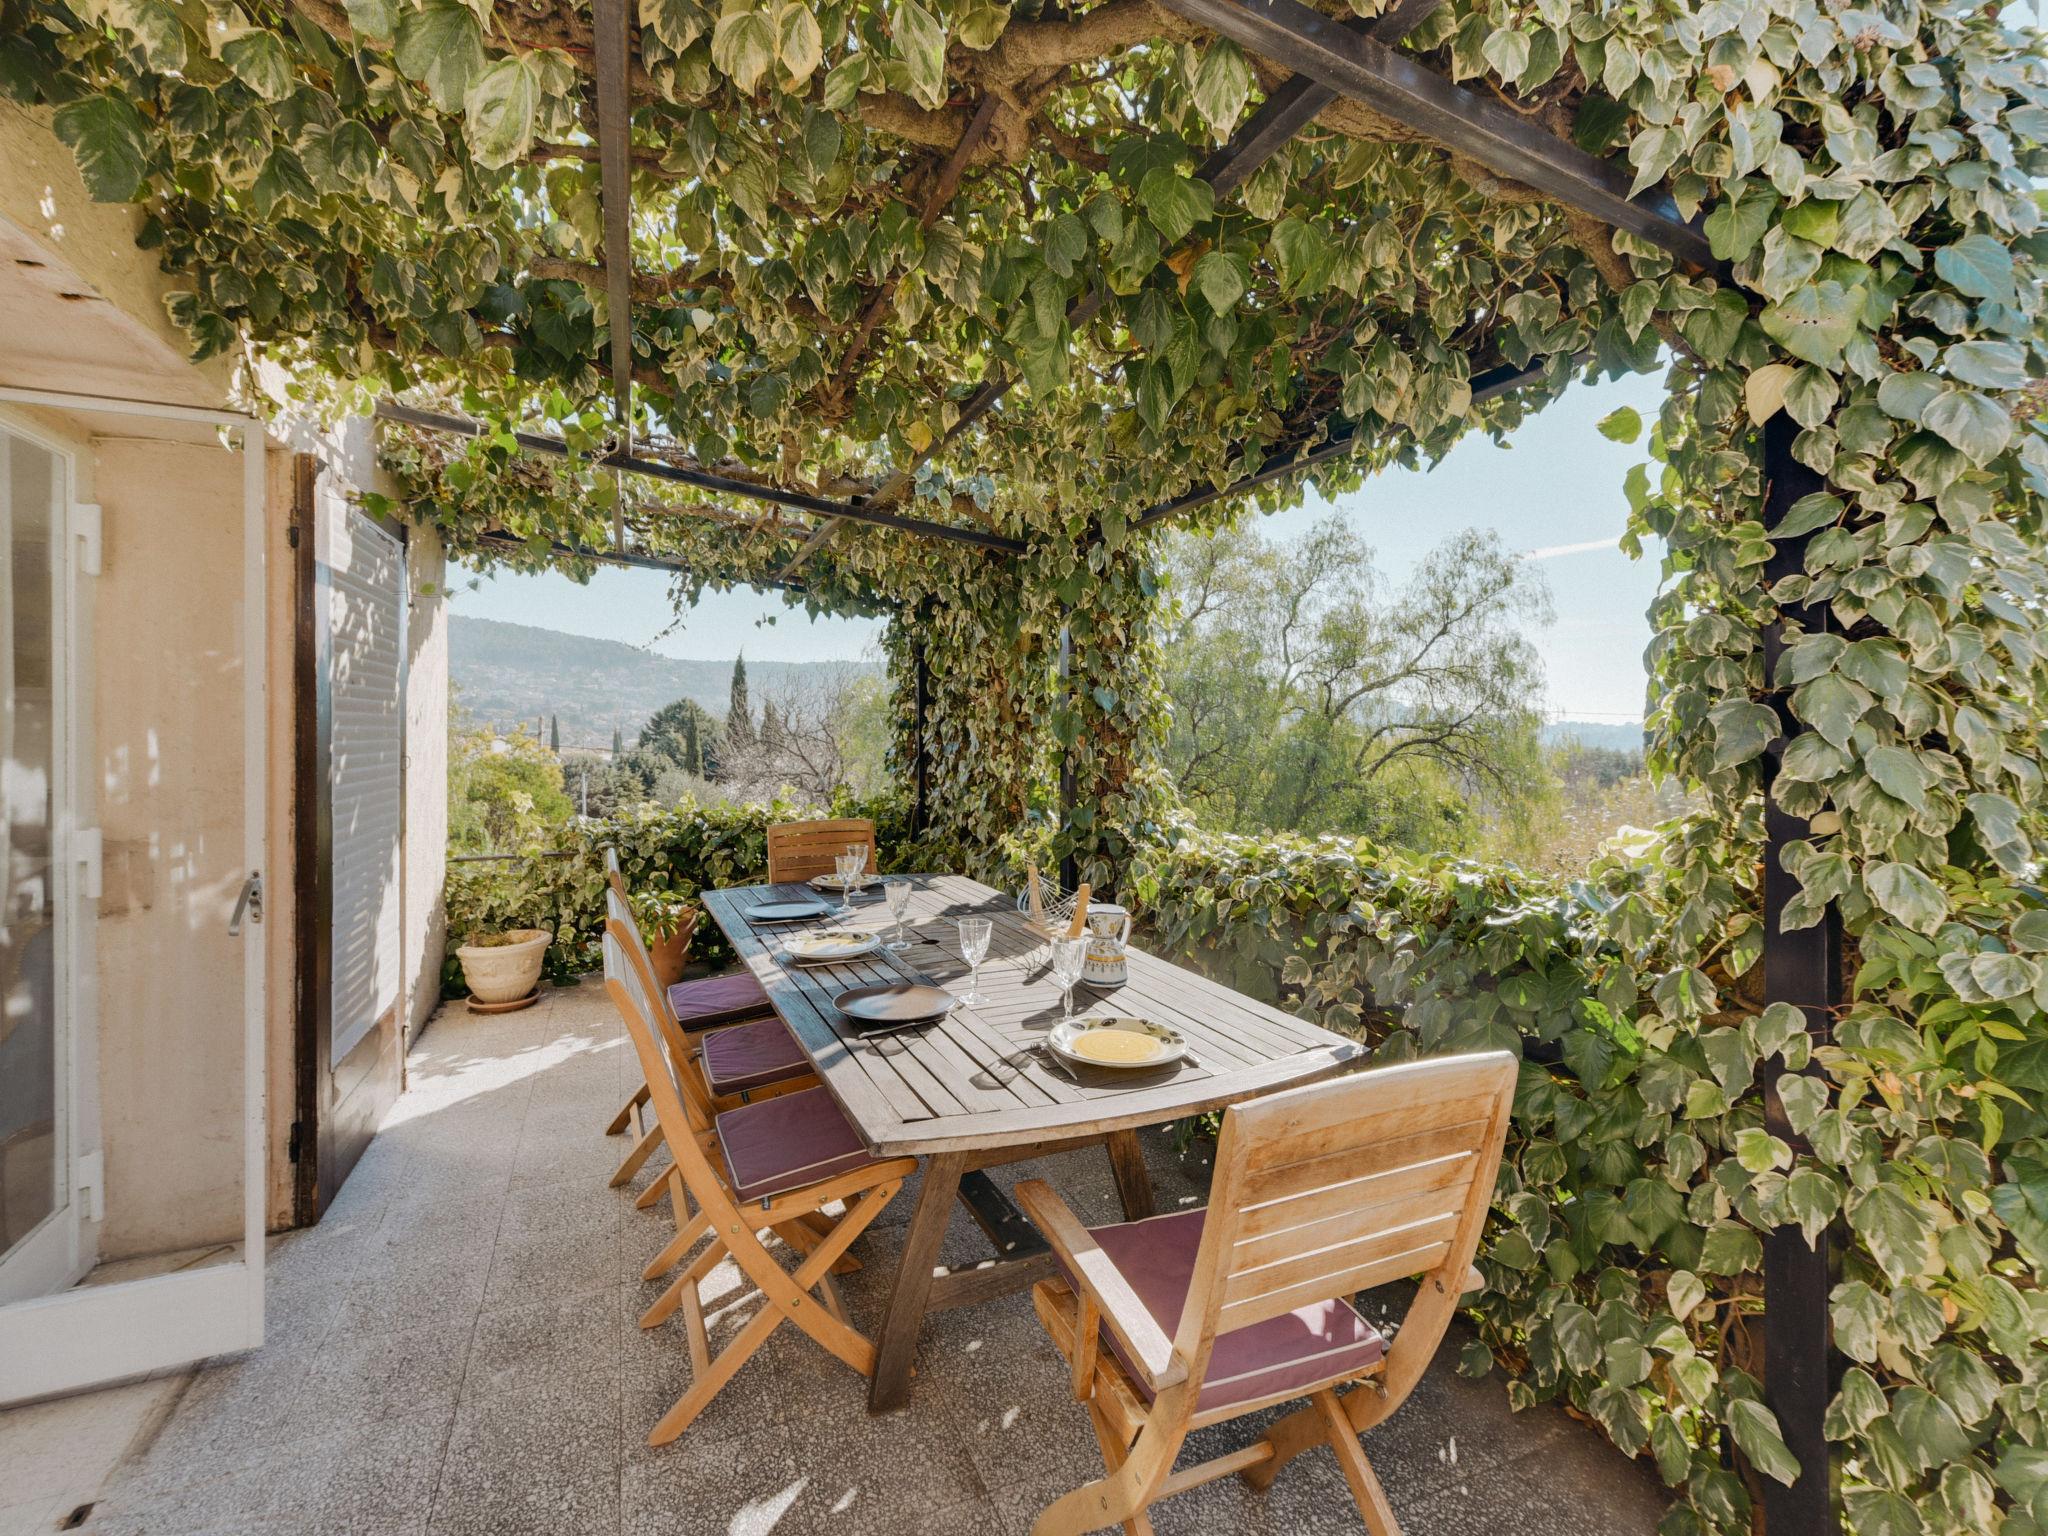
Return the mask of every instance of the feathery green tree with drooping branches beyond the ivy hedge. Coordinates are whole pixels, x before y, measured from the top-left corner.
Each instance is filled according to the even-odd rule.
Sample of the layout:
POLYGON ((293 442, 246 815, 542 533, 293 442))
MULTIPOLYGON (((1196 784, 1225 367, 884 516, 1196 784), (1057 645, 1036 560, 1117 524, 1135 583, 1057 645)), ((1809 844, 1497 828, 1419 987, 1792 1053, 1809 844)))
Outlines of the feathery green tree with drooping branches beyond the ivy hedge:
POLYGON ((1186 537, 1167 565, 1167 764, 1210 823, 1464 848, 1475 801, 1513 813, 1546 784, 1522 627, 1548 596, 1493 535, 1456 535, 1401 588, 1341 518, 1288 543, 1186 537))

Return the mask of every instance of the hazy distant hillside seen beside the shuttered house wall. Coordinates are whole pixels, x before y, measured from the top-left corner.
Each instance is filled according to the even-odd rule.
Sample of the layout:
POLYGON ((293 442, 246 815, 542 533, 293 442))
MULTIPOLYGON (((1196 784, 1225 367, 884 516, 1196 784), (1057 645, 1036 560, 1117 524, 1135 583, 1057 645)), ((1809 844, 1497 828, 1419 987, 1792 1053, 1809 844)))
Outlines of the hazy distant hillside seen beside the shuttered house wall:
MULTIPOLYGON (((756 713, 766 692, 801 682, 805 672, 881 674, 877 662, 748 662, 756 713)), ((557 629, 449 614, 449 678, 457 702, 477 721, 528 727, 555 715, 561 745, 608 748, 612 727, 633 743, 641 723, 664 705, 694 698, 725 715, 733 662, 655 655, 637 645, 563 635, 557 629)))

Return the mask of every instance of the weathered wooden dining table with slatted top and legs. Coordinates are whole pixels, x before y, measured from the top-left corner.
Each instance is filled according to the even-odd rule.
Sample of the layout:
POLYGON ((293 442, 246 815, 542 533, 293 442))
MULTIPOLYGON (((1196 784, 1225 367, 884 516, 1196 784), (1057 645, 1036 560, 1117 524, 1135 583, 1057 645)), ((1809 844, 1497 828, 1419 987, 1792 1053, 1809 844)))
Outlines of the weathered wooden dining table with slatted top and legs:
POLYGON ((705 891, 705 909, 768 993, 817 1067, 819 1081, 877 1155, 924 1159, 918 1206, 889 1311, 877 1337, 868 1409, 909 1399, 911 1360, 930 1311, 969 1307, 1020 1290, 1053 1272, 1053 1255, 1024 1214, 985 1174, 1028 1157, 1102 1145, 1128 1221, 1153 1214, 1139 1128, 1235 1104, 1337 1071, 1358 1040, 1317 1028, 1186 967, 1133 946, 1130 979, 1112 991, 1075 987, 1075 1012, 1147 1018, 1180 1030, 1188 1053, 1165 1067, 1073 1067, 1047 1047, 1061 1018, 1042 934, 1016 901, 961 874, 911 874, 905 950, 874 950, 842 965, 797 965, 799 934, 874 932, 893 918, 879 887, 858 893, 852 915, 801 922, 748 920, 764 903, 838 897, 805 885, 741 885, 705 891), (926 981, 965 995, 969 967, 958 920, 989 918, 979 1004, 954 1004, 932 1024, 864 1034, 834 1006, 840 993, 891 981, 926 981), (993 1253, 944 1268, 940 1241, 961 1200, 993 1253))

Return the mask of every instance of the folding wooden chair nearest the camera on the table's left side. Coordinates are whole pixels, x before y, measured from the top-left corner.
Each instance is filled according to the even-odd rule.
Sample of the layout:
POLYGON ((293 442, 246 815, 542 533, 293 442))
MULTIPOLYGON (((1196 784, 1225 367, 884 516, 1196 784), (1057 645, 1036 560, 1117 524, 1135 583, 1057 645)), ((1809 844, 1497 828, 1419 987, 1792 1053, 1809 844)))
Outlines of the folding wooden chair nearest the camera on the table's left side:
MULTIPOLYGON (((606 928, 606 942, 618 944, 618 924, 606 928)), ((655 1421, 647 1444, 662 1446, 680 1436, 784 1321, 862 1376, 872 1376, 874 1343, 846 1321, 831 1268, 895 1198, 918 1161, 874 1157, 823 1087, 743 1104, 707 1122, 700 1112, 692 1112, 690 1094, 655 1038, 641 987, 625 977, 610 977, 604 987, 639 1051, 649 1102, 676 1157, 668 1178, 682 1188, 674 1200, 676 1243, 670 1247, 680 1257, 705 1243, 662 1300, 641 1317, 641 1327, 653 1327, 682 1311, 692 1372, 690 1391, 655 1421), (682 1190, 696 1206, 688 1219, 682 1190), (846 1212, 827 1221, 825 1206, 842 1200, 846 1212), (762 1243, 764 1231, 782 1235, 801 1253, 795 1270, 784 1270, 774 1260, 762 1243), (725 1255, 760 1290, 762 1305, 737 1337, 713 1356, 698 1284, 725 1255)))

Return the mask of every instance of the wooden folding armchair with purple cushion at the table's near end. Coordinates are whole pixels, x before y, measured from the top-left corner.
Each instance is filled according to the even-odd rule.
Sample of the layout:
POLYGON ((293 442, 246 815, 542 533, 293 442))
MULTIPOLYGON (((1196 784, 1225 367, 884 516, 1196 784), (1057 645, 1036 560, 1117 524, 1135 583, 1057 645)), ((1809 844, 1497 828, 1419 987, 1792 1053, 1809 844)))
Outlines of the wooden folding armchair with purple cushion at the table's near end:
POLYGON ((1032 1536, 1145 1536, 1155 1499, 1229 1473, 1268 1487, 1317 1442, 1372 1536, 1399 1536, 1358 1434, 1401 1407, 1458 1296, 1481 1286, 1473 1253, 1513 1092, 1516 1059, 1489 1051, 1237 1104, 1206 1210, 1083 1229, 1051 1186, 1018 1184, 1065 1270, 1032 1305, 1108 1466, 1032 1536), (1421 1284, 1389 1343, 1350 1296, 1405 1278, 1421 1284), (1362 1384, 1339 1397, 1346 1382, 1362 1384), (1251 1446, 1174 1470, 1190 1430, 1300 1397, 1251 1446))

